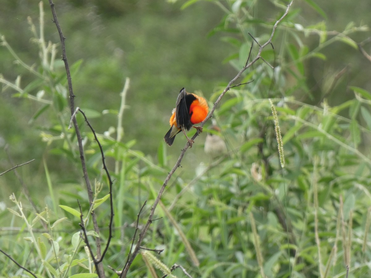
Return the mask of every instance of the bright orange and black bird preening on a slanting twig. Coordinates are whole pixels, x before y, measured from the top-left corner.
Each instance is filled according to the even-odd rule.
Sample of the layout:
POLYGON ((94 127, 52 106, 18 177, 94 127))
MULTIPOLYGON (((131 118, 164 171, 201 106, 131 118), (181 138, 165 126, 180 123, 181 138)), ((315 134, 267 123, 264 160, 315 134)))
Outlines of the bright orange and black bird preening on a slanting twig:
POLYGON ((209 113, 206 99, 193 93, 188 93, 183 88, 179 92, 175 108, 171 113, 169 121, 171 127, 164 137, 165 142, 171 146, 175 135, 182 131, 190 143, 190 148, 192 148, 194 141, 188 138, 185 130, 190 130, 193 127, 197 129, 198 133, 202 132, 202 126, 193 125, 202 122, 206 118, 207 113, 209 113))

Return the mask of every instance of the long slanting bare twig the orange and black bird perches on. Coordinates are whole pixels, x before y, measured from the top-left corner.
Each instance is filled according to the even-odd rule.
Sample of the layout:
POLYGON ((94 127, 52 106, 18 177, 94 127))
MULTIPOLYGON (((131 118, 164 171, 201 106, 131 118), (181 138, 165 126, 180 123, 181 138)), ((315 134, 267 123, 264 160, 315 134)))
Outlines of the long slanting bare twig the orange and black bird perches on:
MULTIPOLYGON (((260 45, 259 46, 259 50, 258 50, 258 53, 256 54, 256 57, 249 63, 245 64, 245 66, 239 71, 239 73, 237 73, 237 75, 232 79, 230 80, 230 82, 228 83, 227 87, 223 90, 223 92, 220 94, 220 96, 218 97, 218 99, 216 100, 216 102, 214 103, 214 106, 213 108, 210 110, 209 112, 209 115, 206 116, 206 118, 200 123, 200 126, 203 126, 207 120, 209 120, 211 118, 211 116, 213 115, 215 109, 216 109, 216 106, 218 105, 218 103, 220 102, 220 100, 222 99, 222 97, 225 95, 225 93, 232 87, 232 84, 234 82, 236 82, 237 79, 240 78, 240 76, 242 75, 242 73, 248 69, 249 67, 252 66, 252 64, 254 64, 257 60, 260 59, 260 55, 262 53, 262 50, 264 49, 264 47, 266 47, 268 44, 270 44, 272 42, 272 39, 273 39, 273 35, 275 34, 276 32, 276 29, 277 29, 277 26, 278 24, 285 18, 285 16, 289 13, 289 9, 291 7, 293 3, 293 0, 288 4, 287 8, 286 8, 286 11, 285 13, 282 15, 282 17, 280 17, 280 19, 278 19, 276 21, 276 23, 273 25, 273 29, 272 29, 272 33, 270 34, 270 37, 269 39, 267 40, 267 42, 265 42, 263 45, 260 45)), ((198 136, 198 132, 196 132, 193 137, 192 137, 192 140, 194 140, 196 137, 198 136)), ((134 261, 135 257, 137 256, 138 252, 139 252, 139 249, 140 249, 140 245, 144 239, 144 236, 150 226, 150 224, 152 223, 152 218, 153 218, 153 215, 155 213, 155 209, 158 205, 158 202, 160 201, 161 199, 161 196, 162 196, 162 193, 164 193, 165 191, 165 188, 168 184, 168 182, 170 181, 170 178, 171 176, 173 176, 174 172, 177 170, 177 168, 180 166, 180 162, 181 160, 183 159, 183 156, 186 152, 186 150, 189 148, 190 146, 190 143, 187 142, 185 144, 185 147, 184 149, 182 150, 182 152, 180 153, 180 156, 177 160, 177 162, 175 163, 173 169, 171 169, 171 171, 169 172, 169 174, 167 175, 167 177, 165 178, 165 181, 164 183, 162 184, 161 186, 161 189, 160 191, 158 192, 158 195, 157 195, 157 198, 155 199, 153 205, 152 205, 152 208, 151 208, 151 211, 150 211, 150 215, 148 216, 148 220, 147 220, 147 223, 144 225, 142 231, 140 232, 139 234, 139 238, 138 238, 138 241, 137 241, 137 245, 135 246, 135 249, 133 251, 133 253, 131 254, 130 258, 128 258, 128 261, 127 263, 125 264, 125 267, 124 269, 122 269, 122 273, 120 275, 121 278, 123 277, 126 277, 128 271, 129 271, 129 267, 130 265, 132 264, 132 262, 134 261)))

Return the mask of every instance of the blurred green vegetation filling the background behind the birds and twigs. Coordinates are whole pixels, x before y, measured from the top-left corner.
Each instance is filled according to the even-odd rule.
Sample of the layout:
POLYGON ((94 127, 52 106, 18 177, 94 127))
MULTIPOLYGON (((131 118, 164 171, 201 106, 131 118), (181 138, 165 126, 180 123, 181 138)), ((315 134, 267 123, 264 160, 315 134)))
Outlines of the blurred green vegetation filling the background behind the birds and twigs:
MULTIPOLYGON (((205 96, 211 107, 246 63, 252 36, 264 43, 288 4, 171 2, 55 1, 76 106, 98 133, 115 179, 107 277, 115 277, 107 265, 124 266, 139 209, 147 200, 142 225, 184 146, 182 136, 171 148, 162 140, 179 90, 205 96)), ((349 265, 348 277, 371 274, 371 63, 357 45, 370 37, 370 7, 317 2, 294 2, 274 49, 262 53, 266 62, 260 59, 239 80, 253 82, 227 92, 217 107, 213 116, 229 154, 204 155, 207 125, 186 152, 157 208, 162 218, 143 242, 164 249, 154 255, 169 268, 180 264, 192 277, 346 277, 349 265)), ((89 202, 76 136, 68 129, 66 74, 49 5, 42 2, 40 24, 37 3, 0 3, 0 167, 35 159, 0 178, 0 249, 39 277, 94 272, 79 240, 80 219, 66 209, 79 210, 77 199, 87 215, 89 202)), ((365 50, 370 53, 370 44, 365 50)), ((99 201, 108 189, 98 145, 81 115, 77 120, 99 201)), ((109 203, 99 202, 95 212, 105 242, 109 203)), ((128 277, 162 277, 153 269, 159 262, 146 254, 134 260, 128 277)), ((6 266, 1 277, 21 275, 6 256, 0 262, 6 266)))

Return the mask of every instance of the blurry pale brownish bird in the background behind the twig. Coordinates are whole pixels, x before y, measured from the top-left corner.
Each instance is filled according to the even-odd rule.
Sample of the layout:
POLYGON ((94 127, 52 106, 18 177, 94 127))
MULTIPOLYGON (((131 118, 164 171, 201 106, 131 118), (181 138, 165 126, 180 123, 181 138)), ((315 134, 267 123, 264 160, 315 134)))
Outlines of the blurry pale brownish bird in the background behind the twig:
POLYGON ((219 136, 220 128, 216 125, 216 120, 211 120, 211 123, 212 126, 210 129, 214 130, 215 133, 208 133, 206 135, 204 151, 211 158, 216 158, 227 153, 227 146, 223 138, 219 136))

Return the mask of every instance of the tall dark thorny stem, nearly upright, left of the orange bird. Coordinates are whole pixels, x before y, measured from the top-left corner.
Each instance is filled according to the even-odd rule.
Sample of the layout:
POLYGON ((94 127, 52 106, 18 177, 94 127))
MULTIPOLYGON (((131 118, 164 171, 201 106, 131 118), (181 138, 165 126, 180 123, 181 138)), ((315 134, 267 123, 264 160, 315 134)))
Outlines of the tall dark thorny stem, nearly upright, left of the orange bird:
MULTIPOLYGON (((62 60, 65 64, 65 69, 66 69, 66 75, 67 75, 67 83, 68 83, 68 92, 69 92, 69 100, 70 100, 70 110, 71 110, 71 116, 75 113, 75 95, 73 94, 73 89, 72 89, 72 79, 71 79, 71 73, 69 70, 69 65, 67 61, 67 55, 66 55, 66 46, 65 46, 65 37, 63 36, 62 29, 60 28, 59 21, 57 18, 57 14, 55 12, 54 8, 54 3, 52 0, 49 0, 50 4, 50 9, 52 10, 53 14, 53 22, 55 23, 55 26, 57 27, 58 34, 59 34, 59 39, 60 39, 60 44, 62 47, 62 60)), ((93 191, 92 187, 90 184, 89 176, 88 176, 88 170, 86 168, 86 163, 85 163, 85 156, 84 156, 84 149, 83 149, 83 144, 82 144, 82 137, 80 133, 80 129, 76 120, 76 117, 72 117, 72 122, 73 126, 75 127, 75 133, 76 133, 76 138, 78 141, 79 145, 79 153, 80 153, 80 160, 81 160, 81 166, 82 166, 82 172, 85 180, 85 185, 86 185, 86 190, 88 191, 88 198, 89 198, 89 205, 93 205, 93 191)), ((98 222, 96 220, 96 215, 94 212, 92 212, 92 220, 93 220, 93 227, 94 231, 99 235, 99 227, 98 227, 98 222)), ((95 239, 96 242, 96 251, 97 251, 97 259, 98 261, 101 259, 101 240, 97 236, 95 239)), ((104 269, 103 265, 99 264, 99 267, 96 269, 98 276, 101 278, 104 278, 104 269)))

